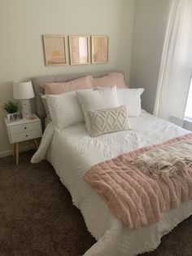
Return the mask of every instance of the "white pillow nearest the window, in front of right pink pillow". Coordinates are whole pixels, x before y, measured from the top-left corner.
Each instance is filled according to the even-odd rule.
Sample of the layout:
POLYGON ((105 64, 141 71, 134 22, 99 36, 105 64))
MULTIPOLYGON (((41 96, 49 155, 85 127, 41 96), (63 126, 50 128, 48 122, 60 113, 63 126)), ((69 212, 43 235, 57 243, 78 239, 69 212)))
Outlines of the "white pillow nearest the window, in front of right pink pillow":
MULTIPOLYGON (((98 86, 97 90, 107 90, 110 87, 98 86)), ((112 87, 111 87, 112 88, 112 87)), ((141 114, 141 95, 143 88, 130 89, 130 88, 117 88, 117 97, 120 106, 125 105, 127 108, 128 117, 138 117, 141 114)))

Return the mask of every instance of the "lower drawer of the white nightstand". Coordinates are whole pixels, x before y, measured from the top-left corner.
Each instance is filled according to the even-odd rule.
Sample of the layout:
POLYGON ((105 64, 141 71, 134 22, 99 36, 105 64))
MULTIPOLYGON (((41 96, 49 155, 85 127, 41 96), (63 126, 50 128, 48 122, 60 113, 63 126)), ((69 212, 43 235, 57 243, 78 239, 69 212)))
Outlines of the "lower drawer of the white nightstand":
POLYGON ((11 134, 11 143, 17 143, 20 141, 35 139, 41 137, 41 130, 28 130, 26 132, 20 132, 17 134, 11 134))

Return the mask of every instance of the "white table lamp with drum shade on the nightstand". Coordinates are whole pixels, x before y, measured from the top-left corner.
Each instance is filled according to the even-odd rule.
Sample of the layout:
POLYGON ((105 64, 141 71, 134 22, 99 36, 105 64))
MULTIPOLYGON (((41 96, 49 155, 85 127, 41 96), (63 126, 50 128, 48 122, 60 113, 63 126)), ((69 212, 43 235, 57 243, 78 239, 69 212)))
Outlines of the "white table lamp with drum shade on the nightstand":
POLYGON ((30 99, 34 98, 32 82, 14 82, 13 98, 20 99, 21 114, 23 118, 32 117, 30 99))

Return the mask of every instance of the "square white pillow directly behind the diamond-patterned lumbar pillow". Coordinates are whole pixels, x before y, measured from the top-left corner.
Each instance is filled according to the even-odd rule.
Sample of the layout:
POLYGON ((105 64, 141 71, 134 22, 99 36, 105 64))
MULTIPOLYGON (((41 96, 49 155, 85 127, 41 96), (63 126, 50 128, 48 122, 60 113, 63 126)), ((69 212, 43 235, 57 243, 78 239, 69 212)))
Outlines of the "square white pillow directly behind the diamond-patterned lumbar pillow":
POLYGON ((89 130, 87 111, 119 107, 116 86, 107 88, 106 90, 78 90, 76 91, 76 95, 84 113, 85 127, 87 130, 89 130))

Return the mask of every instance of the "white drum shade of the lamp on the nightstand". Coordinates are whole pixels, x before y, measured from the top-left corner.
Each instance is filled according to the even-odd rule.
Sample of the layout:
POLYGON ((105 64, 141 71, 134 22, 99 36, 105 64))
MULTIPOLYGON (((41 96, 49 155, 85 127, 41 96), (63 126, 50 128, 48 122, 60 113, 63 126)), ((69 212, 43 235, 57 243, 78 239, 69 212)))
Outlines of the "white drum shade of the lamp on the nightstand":
POLYGON ((32 82, 14 82, 13 98, 14 99, 32 99, 34 98, 32 82))

